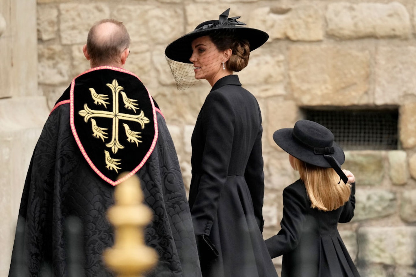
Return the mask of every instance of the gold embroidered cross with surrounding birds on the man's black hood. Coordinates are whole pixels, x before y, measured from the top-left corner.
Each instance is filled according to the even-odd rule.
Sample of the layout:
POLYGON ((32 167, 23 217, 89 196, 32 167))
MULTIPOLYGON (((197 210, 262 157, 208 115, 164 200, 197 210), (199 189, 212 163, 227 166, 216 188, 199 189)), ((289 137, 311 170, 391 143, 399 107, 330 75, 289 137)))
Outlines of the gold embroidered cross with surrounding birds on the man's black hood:
MULTIPOLYGON (((109 143, 106 143, 106 146, 111 148, 111 151, 115 154, 119 149, 124 148, 124 146, 121 145, 121 143, 119 142, 119 120, 129 120, 129 121, 138 122, 138 123, 140 123, 142 129, 144 129, 144 125, 146 123, 149 123, 150 120, 144 116, 143 110, 140 111, 139 115, 119 113, 119 93, 121 93, 121 95, 123 96, 123 101, 125 103, 125 107, 130 109, 130 110, 134 110, 135 113, 136 113, 135 109, 138 109, 138 108, 135 107, 135 105, 137 105, 137 104, 133 103, 133 102, 137 101, 137 100, 127 98, 126 93, 124 93, 124 91, 121 91, 123 89, 123 87, 119 86, 116 79, 114 79, 112 83, 107 83, 106 86, 108 86, 111 89, 111 92, 112 92, 113 110, 112 111, 92 110, 88 107, 87 104, 84 104, 84 110, 80 110, 78 112, 78 114, 84 117, 85 122, 88 122, 88 120, 90 118, 92 119, 93 117, 112 118, 113 119, 112 130, 111 130, 112 131, 111 141, 109 143)), ((108 102, 104 101, 104 100, 108 99, 108 97, 106 98, 107 95, 97 94, 97 93, 95 93, 95 90, 93 88, 90 88, 89 90, 91 91, 91 95, 92 95, 92 98, 95 101, 94 102, 95 104, 97 104, 97 103, 98 103, 98 105, 103 104, 104 107, 106 107, 105 104, 109 104, 108 102)), ((107 130, 107 129, 106 128, 99 128, 95 124, 95 122, 92 122, 92 125, 93 125, 93 136, 94 137, 99 137, 104 141, 103 137, 105 137, 104 135, 107 135, 107 133, 103 132, 103 130, 107 130), (94 125, 98 129, 96 129, 94 127, 94 125), (98 130, 100 130, 101 132, 99 132, 98 130)), ((130 130, 130 128, 129 128, 129 130, 130 130)), ((126 130, 126 134, 127 133, 128 133, 128 131, 126 130)), ((138 145, 138 142, 141 142, 141 141, 137 140, 137 137, 140 137, 140 136, 136 135, 138 133, 139 132, 131 131, 127 135, 127 137, 128 137, 127 141, 136 142, 136 145, 138 145)), ((105 138, 107 138, 107 137, 105 137, 105 138)), ((107 158, 106 158, 106 163, 107 163, 107 158)), ((108 163, 107 163, 107 168, 109 168, 109 167, 111 167, 111 166, 109 166, 108 163)), ((114 167, 112 167, 112 168, 114 168, 114 167)))

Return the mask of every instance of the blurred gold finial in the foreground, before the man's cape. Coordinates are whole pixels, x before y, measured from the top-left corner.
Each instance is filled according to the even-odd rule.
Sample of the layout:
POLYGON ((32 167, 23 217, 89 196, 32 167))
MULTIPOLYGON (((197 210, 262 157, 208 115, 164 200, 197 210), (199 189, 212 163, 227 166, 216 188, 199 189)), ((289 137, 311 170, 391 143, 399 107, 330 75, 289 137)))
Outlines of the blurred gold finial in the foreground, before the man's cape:
MULTIPOLYGON (((120 174, 119 178, 125 173, 120 174)), ((151 210, 142 203, 143 193, 136 175, 116 186, 115 204, 107 211, 114 225, 114 246, 104 251, 104 261, 119 277, 140 277, 156 264, 158 256, 144 244, 144 231, 152 218, 151 210)))

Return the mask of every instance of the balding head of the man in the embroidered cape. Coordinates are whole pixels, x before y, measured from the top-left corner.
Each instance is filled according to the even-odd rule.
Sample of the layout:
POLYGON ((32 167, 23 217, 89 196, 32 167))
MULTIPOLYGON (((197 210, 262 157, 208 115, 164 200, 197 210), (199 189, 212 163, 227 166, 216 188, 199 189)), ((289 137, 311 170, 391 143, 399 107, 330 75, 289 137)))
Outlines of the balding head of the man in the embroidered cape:
POLYGON ((90 60, 92 67, 119 66, 123 53, 129 46, 130 36, 123 23, 114 19, 104 19, 89 30, 84 54, 90 60))

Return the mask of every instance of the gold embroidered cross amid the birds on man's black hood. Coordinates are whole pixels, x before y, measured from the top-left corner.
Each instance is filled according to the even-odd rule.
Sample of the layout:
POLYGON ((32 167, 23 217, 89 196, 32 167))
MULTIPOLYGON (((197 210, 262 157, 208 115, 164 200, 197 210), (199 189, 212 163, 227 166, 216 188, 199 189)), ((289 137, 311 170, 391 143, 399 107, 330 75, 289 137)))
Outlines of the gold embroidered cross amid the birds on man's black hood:
MULTIPOLYGON (((106 143, 106 146, 111 148, 111 151, 115 154, 119 149, 124 148, 124 146, 121 145, 121 143, 119 142, 119 120, 136 121, 136 122, 140 123, 142 129, 144 129, 144 125, 146 123, 149 123, 150 120, 144 116, 143 110, 140 111, 139 115, 131 115, 131 114, 128 114, 128 113, 120 113, 119 112, 119 93, 120 92, 121 92, 121 95, 123 96, 124 103, 126 103, 125 99, 124 99, 124 98, 126 98, 124 96, 125 93, 121 91, 123 89, 123 87, 119 86, 119 83, 117 82, 116 79, 114 79, 112 83, 107 83, 106 85, 111 89, 111 92, 113 94, 113 110, 112 111, 92 110, 92 109, 88 108, 87 103, 85 103, 84 104, 84 110, 80 110, 78 112, 78 114, 84 117, 85 122, 88 122, 89 118, 93 118, 93 117, 112 118, 113 119, 111 141, 109 143, 106 143)), ((91 89, 90 89, 90 91, 91 91, 91 89)), ((106 95, 101 95, 101 96, 106 96, 106 95)), ((96 100, 94 98, 94 96, 92 96, 92 97, 93 97, 94 100, 96 100)), ((127 98, 127 99, 129 99, 129 98, 127 98)), ((129 100, 132 100, 132 99, 129 99, 129 100)), ((105 102, 105 103, 107 103, 107 102, 105 102)), ((105 106, 105 103, 103 103, 104 106, 105 106)), ((133 103, 133 104, 137 105, 136 103, 133 103)), ((100 105, 100 102, 98 102, 98 105, 100 105)), ((130 106, 127 106, 126 108, 131 109, 130 106)), ((134 107, 134 108, 136 108, 136 107, 134 107)), ((133 109, 133 110, 136 113, 136 110, 135 109, 133 109)), ((102 128, 102 129, 106 130, 105 128, 102 128)), ((126 132, 127 132, 127 129, 126 129, 126 132)), ((106 134, 107 133, 104 132, 104 135, 106 135, 106 134)), ((100 138, 102 138, 102 137, 100 137, 100 138)), ((136 144, 137 144, 137 142, 136 142, 136 144)))

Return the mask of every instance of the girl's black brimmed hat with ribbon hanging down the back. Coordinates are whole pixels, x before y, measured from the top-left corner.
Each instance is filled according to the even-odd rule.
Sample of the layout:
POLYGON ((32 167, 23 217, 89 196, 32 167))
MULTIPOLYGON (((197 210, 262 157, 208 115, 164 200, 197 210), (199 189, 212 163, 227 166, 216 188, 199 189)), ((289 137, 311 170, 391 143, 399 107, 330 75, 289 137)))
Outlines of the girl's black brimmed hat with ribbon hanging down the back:
POLYGON ((287 153, 301 161, 318 167, 332 167, 347 184, 348 178, 341 169, 344 151, 334 142, 334 135, 326 127, 310 120, 299 120, 293 128, 279 129, 273 140, 287 153))

